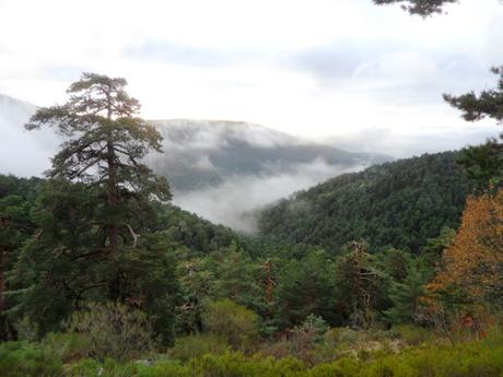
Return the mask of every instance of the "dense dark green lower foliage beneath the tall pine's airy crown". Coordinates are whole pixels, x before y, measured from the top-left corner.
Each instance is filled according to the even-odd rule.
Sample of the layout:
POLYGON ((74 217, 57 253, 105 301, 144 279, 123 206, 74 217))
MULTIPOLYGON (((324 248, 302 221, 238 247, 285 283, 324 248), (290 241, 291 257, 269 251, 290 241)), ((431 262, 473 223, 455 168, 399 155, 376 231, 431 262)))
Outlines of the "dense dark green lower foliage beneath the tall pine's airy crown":
POLYGON ((12 316, 27 316, 44 334, 58 330, 85 302, 118 298, 155 318, 155 333, 169 343, 177 292, 173 255, 152 233, 120 254, 104 252, 94 225, 98 203, 83 185, 47 182, 32 211, 39 233, 26 243, 12 272, 13 288, 22 288, 13 290, 12 316))

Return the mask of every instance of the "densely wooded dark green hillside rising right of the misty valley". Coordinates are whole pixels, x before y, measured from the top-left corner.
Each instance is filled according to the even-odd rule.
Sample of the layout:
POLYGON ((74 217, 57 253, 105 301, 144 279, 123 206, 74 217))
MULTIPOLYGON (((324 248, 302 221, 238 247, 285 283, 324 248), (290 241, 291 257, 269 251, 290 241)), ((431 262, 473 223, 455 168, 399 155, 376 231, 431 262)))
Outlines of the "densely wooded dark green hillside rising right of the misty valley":
POLYGON ((456 227, 471 189, 455 152, 425 154, 344 174, 262 212, 262 234, 337 250, 353 239, 417 252, 456 227))

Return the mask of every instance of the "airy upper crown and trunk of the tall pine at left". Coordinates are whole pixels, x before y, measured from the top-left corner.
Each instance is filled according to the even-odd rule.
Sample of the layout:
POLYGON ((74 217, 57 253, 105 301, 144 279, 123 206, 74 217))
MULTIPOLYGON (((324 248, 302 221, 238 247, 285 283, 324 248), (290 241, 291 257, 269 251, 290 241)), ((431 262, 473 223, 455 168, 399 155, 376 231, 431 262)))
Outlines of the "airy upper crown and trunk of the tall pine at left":
POLYGON ((137 117, 140 104, 127 94, 126 85, 121 78, 84 73, 67 91, 68 103, 38 109, 25 126, 54 127, 69 138, 52 158, 48 177, 103 190, 102 247, 110 252, 128 238, 136 243, 131 219, 138 207, 152 196, 171 198, 167 181, 140 162, 150 150, 161 152, 162 137, 137 117))

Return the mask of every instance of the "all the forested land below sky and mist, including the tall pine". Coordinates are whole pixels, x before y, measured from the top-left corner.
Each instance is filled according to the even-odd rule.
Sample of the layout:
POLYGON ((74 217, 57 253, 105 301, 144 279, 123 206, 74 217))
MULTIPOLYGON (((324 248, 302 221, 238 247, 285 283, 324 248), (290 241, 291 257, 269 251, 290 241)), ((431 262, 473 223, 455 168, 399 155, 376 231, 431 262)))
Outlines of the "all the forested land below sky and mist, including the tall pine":
POLYGON ((68 138, 46 177, 0 175, 2 377, 501 376, 495 141, 336 177, 244 236, 171 203, 126 84, 84 73, 25 126, 68 138))

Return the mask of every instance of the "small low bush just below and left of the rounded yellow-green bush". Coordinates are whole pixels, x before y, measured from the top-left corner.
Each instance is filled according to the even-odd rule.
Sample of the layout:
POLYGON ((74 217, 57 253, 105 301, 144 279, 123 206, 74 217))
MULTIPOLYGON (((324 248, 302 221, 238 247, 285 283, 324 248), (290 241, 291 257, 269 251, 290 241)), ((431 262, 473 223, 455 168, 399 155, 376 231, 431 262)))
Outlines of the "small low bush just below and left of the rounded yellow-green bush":
POLYGON ((229 350, 229 344, 221 335, 197 334, 178 338, 168 351, 171 357, 187 362, 204 354, 220 355, 229 350))

